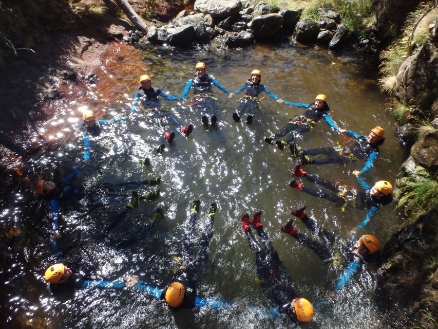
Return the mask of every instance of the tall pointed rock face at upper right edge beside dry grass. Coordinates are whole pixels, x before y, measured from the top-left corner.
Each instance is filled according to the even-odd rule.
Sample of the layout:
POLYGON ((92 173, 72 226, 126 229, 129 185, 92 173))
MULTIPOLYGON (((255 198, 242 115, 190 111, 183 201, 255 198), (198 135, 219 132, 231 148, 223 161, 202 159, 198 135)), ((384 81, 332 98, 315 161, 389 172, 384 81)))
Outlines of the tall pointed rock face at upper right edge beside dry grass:
POLYGON ((408 105, 417 105, 429 111, 438 98, 438 32, 437 26, 430 38, 400 66, 394 87, 396 99, 408 105))

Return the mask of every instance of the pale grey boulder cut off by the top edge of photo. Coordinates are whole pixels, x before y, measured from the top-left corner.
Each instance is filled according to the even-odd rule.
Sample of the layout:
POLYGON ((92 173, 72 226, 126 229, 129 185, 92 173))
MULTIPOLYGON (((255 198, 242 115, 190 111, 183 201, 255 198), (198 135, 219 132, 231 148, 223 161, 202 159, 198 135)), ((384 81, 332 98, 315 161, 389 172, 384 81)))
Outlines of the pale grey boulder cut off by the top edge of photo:
POLYGON ((215 21, 235 16, 242 9, 240 0, 197 0, 195 10, 203 14, 210 14, 215 21))

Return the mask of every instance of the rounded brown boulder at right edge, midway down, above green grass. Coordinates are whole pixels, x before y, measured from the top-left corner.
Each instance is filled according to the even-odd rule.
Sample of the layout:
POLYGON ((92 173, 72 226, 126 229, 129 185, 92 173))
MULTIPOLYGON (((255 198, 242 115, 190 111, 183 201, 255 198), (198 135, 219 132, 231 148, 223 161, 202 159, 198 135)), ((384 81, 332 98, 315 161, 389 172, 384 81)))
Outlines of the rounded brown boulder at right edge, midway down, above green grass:
POLYGON ((411 148, 418 165, 429 171, 438 170, 438 130, 424 134, 411 148))

